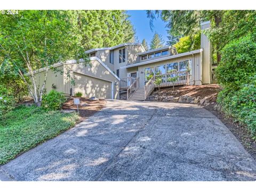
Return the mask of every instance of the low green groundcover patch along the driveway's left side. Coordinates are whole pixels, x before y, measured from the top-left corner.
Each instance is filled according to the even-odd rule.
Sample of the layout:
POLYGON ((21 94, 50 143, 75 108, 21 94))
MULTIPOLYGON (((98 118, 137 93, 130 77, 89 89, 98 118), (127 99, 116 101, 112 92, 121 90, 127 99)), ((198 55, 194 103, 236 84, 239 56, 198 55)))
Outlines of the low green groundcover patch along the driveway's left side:
POLYGON ((73 127, 76 113, 20 106, 0 121, 0 164, 73 127))

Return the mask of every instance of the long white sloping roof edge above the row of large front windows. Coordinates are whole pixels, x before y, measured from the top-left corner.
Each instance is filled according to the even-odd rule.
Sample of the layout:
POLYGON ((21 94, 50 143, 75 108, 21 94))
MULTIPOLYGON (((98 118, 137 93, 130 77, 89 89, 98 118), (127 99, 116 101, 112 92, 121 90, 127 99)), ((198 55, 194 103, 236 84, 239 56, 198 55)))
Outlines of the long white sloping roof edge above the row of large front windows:
POLYGON ((185 52, 185 53, 180 53, 180 54, 174 54, 168 57, 163 57, 163 58, 157 58, 157 59, 152 59, 152 60, 148 60, 148 61, 143 61, 143 62, 138 62, 138 63, 134 63, 131 65, 126 65, 126 66, 122 66, 120 67, 121 69, 125 69, 125 68, 130 68, 130 67, 135 67, 135 66, 141 66, 141 65, 146 65, 148 63, 154 63, 157 61, 164 61, 164 60, 168 60, 168 59, 174 59, 174 58, 179 58, 179 57, 184 57, 190 54, 196 54, 196 53, 201 53, 203 52, 203 49, 198 49, 198 50, 194 50, 194 51, 189 51, 189 52, 185 52))

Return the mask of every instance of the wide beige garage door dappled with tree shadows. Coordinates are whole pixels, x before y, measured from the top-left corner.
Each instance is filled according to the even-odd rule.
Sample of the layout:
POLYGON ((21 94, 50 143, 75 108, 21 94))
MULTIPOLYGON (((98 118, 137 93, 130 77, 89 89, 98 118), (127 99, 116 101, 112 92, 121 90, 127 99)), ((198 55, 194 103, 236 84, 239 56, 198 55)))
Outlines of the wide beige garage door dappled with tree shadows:
POLYGON ((111 82, 77 73, 74 73, 74 77, 74 94, 81 92, 83 97, 112 98, 111 82))

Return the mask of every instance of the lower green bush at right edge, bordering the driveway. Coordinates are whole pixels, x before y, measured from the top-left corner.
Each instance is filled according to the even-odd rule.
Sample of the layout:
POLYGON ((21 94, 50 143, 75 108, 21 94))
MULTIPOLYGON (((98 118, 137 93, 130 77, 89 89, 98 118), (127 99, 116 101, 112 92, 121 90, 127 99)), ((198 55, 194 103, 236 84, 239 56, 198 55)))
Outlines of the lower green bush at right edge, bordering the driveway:
POLYGON ((251 133, 256 133, 256 75, 249 78, 249 83, 242 89, 234 91, 223 89, 218 95, 218 103, 222 110, 242 125, 246 125, 251 133))

